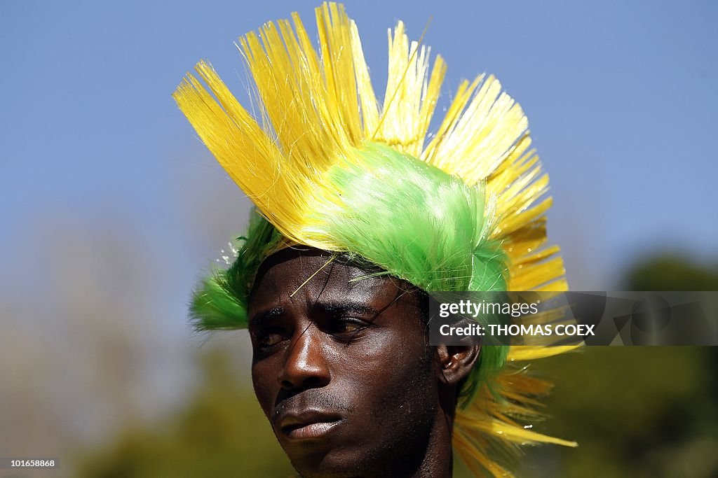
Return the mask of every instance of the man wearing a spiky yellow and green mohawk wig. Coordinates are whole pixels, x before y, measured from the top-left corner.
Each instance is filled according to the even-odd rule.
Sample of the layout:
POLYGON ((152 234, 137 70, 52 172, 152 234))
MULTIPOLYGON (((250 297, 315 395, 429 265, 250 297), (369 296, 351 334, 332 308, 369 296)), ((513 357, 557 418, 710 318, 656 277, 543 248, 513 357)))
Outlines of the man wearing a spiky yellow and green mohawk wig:
POLYGON ((574 445, 516 418, 549 384, 514 361, 566 348, 426 338, 427 292, 567 287, 521 107, 480 76, 427 136, 440 57, 429 72, 399 22, 380 106, 343 7, 317 27, 319 53, 296 14, 240 39, 259 122, 204 62, 208 89, 187 75, 174 94, 256 205, 236 261, 195 294, 197 328, 248 328, 256 396, 305 477, 449 477, 454 451, 506 476, 518 444, 574 445))

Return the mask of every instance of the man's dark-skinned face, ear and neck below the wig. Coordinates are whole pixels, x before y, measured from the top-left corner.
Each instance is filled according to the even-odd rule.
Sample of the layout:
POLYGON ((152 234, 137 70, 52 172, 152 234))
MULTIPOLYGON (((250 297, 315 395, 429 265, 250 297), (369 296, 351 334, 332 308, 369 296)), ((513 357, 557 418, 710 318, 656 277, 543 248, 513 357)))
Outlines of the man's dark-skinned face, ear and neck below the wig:
POLYGON ((480 348, 429 347, 419 292, 331 257, 274 254, 249 301, 254 391, 279 444, 306 478, 450 477, 480 348))

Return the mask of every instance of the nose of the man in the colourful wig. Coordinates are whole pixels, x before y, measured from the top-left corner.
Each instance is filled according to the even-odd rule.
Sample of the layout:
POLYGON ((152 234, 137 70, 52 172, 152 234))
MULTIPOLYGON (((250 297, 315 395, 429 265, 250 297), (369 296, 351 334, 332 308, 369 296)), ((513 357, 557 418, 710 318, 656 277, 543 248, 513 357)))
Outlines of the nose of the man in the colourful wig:
POLYGON ((322 331, 314 325, 299 330, 298 337, 287 350, 279 383, 286 390, 320 388, 330 381, 322 331))

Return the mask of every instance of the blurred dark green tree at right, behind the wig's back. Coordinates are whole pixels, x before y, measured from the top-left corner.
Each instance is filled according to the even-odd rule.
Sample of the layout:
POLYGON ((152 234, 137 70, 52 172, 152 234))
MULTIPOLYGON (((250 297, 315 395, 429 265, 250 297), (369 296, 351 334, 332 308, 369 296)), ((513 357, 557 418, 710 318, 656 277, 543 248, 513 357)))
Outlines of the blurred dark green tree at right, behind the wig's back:
MULTIPOLYGON (((718 290, 718 268, 663 254, 624 274, 625 290, 718 290)), ((531 450, 526 477, 718 476, 718 350, 587 347, 541 360, 556 383, 540 429, 578 449, 531 450), (547 470, 551 472, 547 473, 547 470)))

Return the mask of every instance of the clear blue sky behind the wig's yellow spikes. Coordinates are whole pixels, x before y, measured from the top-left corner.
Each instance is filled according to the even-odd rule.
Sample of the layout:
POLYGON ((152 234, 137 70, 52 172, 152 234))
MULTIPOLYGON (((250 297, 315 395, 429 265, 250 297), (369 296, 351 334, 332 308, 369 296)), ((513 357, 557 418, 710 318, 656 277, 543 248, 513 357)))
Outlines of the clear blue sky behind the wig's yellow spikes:
MULTIPOLYGON (((171 258, 180 300, 221 238, 242 231, 247 203, 170 95, 204 58, 245 97, 233 41, 293 10, 309 26, 315 4, 5 2, 1 263, 22 269, 24 244, 57 217, 128 224, 139 247, 171 258), (209 209, 217 219, 187 219, 207 195, 226 199, 209 209)), ((424 43, 449 65, 444 102, 480 72, 497 75, 521 102, 551 175, 549 233, 579 288, 615 289, 615 274, 657 248, 718 255, 714 2, 350 1, 347 8, 375 85, 386 79, 386 29, 403 19, 418 38, 431 17, 424 43)))

